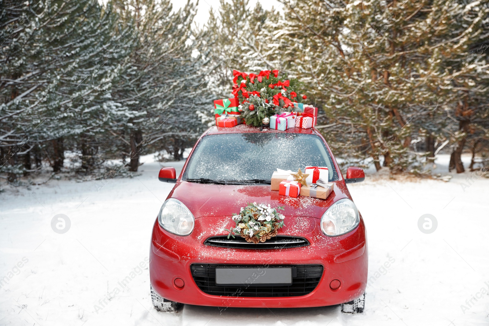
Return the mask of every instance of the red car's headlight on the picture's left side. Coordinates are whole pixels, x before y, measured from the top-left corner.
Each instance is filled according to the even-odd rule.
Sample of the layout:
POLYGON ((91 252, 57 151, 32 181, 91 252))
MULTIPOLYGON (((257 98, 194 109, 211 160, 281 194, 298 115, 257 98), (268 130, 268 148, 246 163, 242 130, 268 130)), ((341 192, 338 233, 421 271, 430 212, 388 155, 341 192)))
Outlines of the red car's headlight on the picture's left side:
POLYGON ((188 236, 194 230, 195 218, 178 199, 167 199, 158 214, 159 225, 178 236, 188 236))

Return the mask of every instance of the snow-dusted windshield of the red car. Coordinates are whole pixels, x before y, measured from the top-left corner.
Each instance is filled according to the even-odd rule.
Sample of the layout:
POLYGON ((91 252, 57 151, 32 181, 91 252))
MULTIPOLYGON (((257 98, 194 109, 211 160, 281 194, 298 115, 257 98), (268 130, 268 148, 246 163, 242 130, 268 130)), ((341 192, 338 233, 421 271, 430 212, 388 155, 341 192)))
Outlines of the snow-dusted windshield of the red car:
POLYGON ((330 153, 317 135, 224 133, 202 137, 183 178, 204 183, 269 184, 277 168, 304 172, 306 166, 328 167, 329 181, 338 180, 330 153))

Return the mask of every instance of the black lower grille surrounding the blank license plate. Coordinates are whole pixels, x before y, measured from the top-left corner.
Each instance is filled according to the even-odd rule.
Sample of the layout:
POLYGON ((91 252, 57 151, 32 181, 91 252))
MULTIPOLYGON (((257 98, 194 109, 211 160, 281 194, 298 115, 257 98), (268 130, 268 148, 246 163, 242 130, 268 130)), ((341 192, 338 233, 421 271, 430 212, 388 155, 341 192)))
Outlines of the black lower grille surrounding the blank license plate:
POLYGON ((274 265, 291 267, 291 285, 219 286, 216 285, 216 267, 263 267, 263 265, 191 264, 195 283, 204 293, 226 297, 298 297, 312 292, 323 275, 322 265, 274 265))

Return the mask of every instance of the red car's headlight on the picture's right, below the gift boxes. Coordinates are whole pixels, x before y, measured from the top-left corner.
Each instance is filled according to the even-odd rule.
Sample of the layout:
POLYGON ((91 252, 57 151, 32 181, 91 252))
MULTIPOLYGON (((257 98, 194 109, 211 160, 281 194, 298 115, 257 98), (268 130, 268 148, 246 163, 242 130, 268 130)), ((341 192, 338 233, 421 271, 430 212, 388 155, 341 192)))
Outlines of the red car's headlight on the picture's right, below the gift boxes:
POLYGON ((321 217, 321 230, 327 236, 340 236, 356 228, 360 215, 355 204, 343 198, 331 205, 321 217))

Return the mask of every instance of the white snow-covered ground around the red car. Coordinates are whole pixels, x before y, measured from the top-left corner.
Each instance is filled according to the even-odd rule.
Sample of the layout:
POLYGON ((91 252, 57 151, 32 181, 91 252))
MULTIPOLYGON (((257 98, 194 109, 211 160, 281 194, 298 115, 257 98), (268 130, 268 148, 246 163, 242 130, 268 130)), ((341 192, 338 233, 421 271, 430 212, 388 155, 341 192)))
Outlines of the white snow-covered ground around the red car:
MULTIPOLYGON (((158 312, 146 260, 172 185, 158 181, 160 163, 144 159, 142 174, 132 179, 51 180, 0 194, 0 325, 489 324, 489 180, 469 172, 451 174, 449 182, 375 173, 349 185, 368 231, 363 314, 341 314, 339 306, 220 311, 185 305, 177 314, 158 312), (51 229, 57 214, 71 221, 65 234, 51 229), (436 217, 435 232, 419 230, 423 214, 436 217), (118 282, 127 276, 132 281, 122 288, 118 282), (107 299, 115 287, 121 292, 107 299)), ((447 159, 437 161, 445 174, 447 159)))

